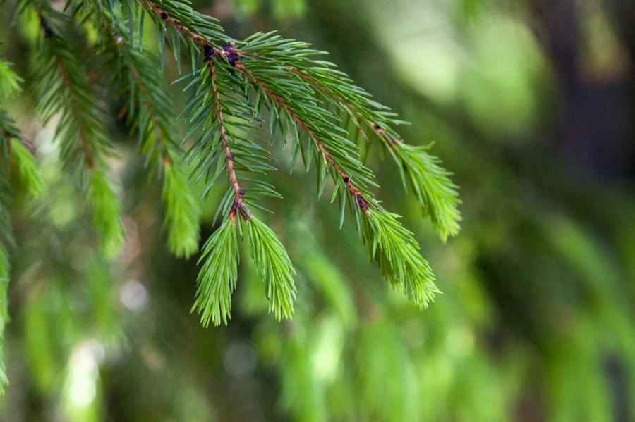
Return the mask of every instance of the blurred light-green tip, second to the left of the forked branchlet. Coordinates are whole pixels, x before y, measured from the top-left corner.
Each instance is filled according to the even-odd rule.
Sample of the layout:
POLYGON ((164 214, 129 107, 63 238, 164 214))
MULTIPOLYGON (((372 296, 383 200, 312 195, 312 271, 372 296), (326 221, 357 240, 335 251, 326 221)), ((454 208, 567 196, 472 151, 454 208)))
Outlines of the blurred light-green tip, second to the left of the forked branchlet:
POLYGON ((93 170, 88 195, 92 204, 92 224, 99 234, 104 255, 114 258, 121 252, 123 225, 119 218, 121 203, 109 183, 102 170, 93 170))

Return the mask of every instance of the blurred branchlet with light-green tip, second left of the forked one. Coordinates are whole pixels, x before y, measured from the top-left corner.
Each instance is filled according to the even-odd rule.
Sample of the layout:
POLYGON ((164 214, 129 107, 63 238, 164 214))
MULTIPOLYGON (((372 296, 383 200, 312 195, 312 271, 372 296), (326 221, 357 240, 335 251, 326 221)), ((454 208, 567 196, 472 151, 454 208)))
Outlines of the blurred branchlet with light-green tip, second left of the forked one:
POLYGON ((72 20, 47 5, 38 5, 37 14, 42 27, 40 54, 32 75, 37 109, 45 124, 60 113, 54 140, 59 143, 61 161, 87 180, 92 221, 104 253, 114 257, 121 252, 123 225, 121 204, 107 177, 106 159, 113 155, 104 128, 107 114, 79 52, 66 39, 65 30, 73 26, 72 20))

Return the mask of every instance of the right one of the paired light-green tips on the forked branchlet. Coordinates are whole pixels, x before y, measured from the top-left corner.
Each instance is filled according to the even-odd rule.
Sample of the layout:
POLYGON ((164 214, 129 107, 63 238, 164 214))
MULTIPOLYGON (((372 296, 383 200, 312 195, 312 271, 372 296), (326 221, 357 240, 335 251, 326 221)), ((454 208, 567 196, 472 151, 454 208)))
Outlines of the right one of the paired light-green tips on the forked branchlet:
POLYGON ((289 255, 277 235, 258 218, 251 217, 247 223, 249 253, 255 267, 265 283, 269 311, 278 321, 291 318, 294 314, 296 285, 293 275, 296 273, 289 255))

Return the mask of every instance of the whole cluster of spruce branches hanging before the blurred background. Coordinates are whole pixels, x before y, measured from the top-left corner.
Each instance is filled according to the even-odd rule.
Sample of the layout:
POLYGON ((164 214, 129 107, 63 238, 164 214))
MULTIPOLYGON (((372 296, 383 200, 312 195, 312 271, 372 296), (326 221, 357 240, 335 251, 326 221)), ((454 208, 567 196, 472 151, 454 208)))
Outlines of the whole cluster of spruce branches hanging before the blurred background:
MULTIPOLYGON (((42 124, 55 128, 53 142, 63 168, 87 200, 104 256, 119 256, 125 237, 111 168, 116 160, 111 132, 116 118, 124 118, 130 134, 138 138, 148 178, 163 180, 163 227, 176 256, 191 256, 199 240, 200 211, 183 161, 192 167, 189 182, 204 185, 204 199, 220 179, 227 180, 214 217, 220 228, 200 257, 193 311, 200 313, 203 325, 228 322, 238 279, 238 237, 245 236, 269 311, 277 320, 294 314, 294 266, 283 242, 258 217, 272 212, 262 198, 282 199, 261 179, 277 170, 270 152, 277 144, 290 144, 291 172, 298 156, 307 172, 313 165, 318 198, 331 180, 340 227, 349 209, 370 259, 377 261, 385 278, 421 308, 433 300, 438 292, 435 276, 418 252, 413 233, 375 199, 372 191, 378 186, 361 151, 371 138, 387 151, 404 187, 410 185, 442 240, 459 230, 456 186, 427 148, 409 147, 397 135, 394 126, 404 122, 321 60, 322 52, 273 32, 232 39, 217 20, 185 0, 69 0, 60 6, 44 0, 17 2, 13 20, 37 25, 35 37, 28 39, 37 54, 25 77, 18 77, 11 63, 0 61, 0 94, 16 94, 28 80, 42 124), (144 39, 147 25, 154 25, 158 40, 144 39), (158 55, 152 53, 155 43, 158 55), (181 111, 188 124, 183 141, 187 151, 180 146, 163 74, 167 50, 174 54, 179 72, 185 70, 175 82, 191 95, 181 111), (107 109, 112 98, 122 104, 117 117, 107 109)), ((28 193, 42 199, 44 182, 37 161, 4 111, 0 118, 5 173, 8 163, 15 162, 28 193)), ((8 177, 3 182, 8 184, 8 177)), ((8 216, 3 223, 10 247, 8 216)), ((9 259, 8 249, 0 252, 4 326, 9 259)), ((0 374, 4 383, 4 372, 0 374)))

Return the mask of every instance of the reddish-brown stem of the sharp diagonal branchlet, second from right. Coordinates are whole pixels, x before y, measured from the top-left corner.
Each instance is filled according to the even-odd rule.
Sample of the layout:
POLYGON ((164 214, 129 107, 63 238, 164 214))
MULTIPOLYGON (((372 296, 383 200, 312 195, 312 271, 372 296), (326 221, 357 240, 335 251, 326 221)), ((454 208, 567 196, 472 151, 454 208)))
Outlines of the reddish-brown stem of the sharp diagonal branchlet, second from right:
POLYGON ((308 123, 306 123, 306 121, 304 121, 300 116, 298 116, 298 113, 296 113, 293 108, 291 108, 291 106, 286 101, 284 101, 282 97, 280 97, 272 89, 267 87, 267 84, 265 84, 265 82, 263 82, 260 77, 253 75, 253 73, 251 73, 242 63, 238 63, 236 65, 236 68, 242 70, 253 82, 254 85, 262 88, 265 94, 267 94, 267 96, 269 96, 277 104, 277 106, 284 108, 284 110, 289 113, 289 116, 291 116, 291 118, 295 120, 296 124, 303 130, 303 132, 305 132, 308 137, 310 137, 310 139, 315 142, 315 145, 317 145, 317 148, 320 149, 320 152, 322 153, 322 156, 324 156, 327 163, 329 163, 335 170, 337 170, 337 173, 339 173, 341 180, 344 182, 344 185, 346 185, 346 187, 349 189, 351 196, 353 196, 353 198, 357 200, 358 205, 360 206, 362 211, 364 211, 365 213, 370 213, 370 204, 368 204, 368 201, 366 201, 362 192, 355 186, 353 180, 351 179, 351 176, 348 175, 333 159, 330 151, 327 149, 324 142, 322 142, 320 138, 317 137, 315 130, 311 129, 310 125, 308 125, 308 123))

